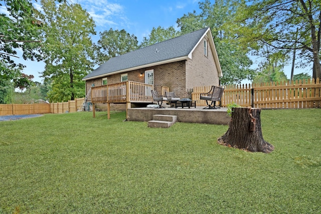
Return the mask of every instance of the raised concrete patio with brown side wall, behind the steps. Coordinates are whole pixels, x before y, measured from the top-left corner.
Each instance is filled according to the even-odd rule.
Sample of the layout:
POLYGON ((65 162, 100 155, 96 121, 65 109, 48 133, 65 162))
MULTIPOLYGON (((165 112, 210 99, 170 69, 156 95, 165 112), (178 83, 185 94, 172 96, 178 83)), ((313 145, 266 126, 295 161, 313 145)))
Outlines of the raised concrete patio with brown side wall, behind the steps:
POLYGON ((149 121, 153 115, 176 115, 179 122, 227 125, 231 117, 227 108, 203 109, 204 106, 191 108, 129 108, 128 121, 149 121))

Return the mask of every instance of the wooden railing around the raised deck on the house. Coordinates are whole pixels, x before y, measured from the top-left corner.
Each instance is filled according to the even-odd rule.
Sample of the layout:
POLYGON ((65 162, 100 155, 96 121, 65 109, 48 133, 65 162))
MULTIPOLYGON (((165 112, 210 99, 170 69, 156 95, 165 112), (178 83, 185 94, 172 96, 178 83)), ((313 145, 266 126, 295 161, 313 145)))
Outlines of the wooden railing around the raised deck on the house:
POLYGON ((91 88, 93 103, 149 103, 152 85, 126 81, 91 88))

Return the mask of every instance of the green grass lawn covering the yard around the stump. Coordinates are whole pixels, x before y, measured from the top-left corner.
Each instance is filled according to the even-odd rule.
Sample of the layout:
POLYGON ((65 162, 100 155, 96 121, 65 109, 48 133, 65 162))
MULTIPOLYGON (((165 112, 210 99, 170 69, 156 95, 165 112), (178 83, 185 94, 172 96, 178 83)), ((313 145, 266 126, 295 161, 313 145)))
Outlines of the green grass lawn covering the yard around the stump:
POLYGON ((269 154, 217 144, 228 126, 107 120, 0 122, 0 213, 317 213, 321 110, 262 110, 269 154))

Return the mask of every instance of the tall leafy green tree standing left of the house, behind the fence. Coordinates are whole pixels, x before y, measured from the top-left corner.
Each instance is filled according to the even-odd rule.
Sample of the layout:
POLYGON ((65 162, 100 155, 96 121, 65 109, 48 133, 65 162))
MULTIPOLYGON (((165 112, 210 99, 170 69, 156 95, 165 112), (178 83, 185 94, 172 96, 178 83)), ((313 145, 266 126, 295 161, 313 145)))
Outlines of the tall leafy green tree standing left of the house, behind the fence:
POLYGON ((45 71, 42 77, 52 80, 50 101, 74 100, 85 94, 82 78, 94 65, 94 45, 91 35, 95 24, 79 4, 41 1, 44 20, 45 71), (53 93, 55 92, 55 93, 53 93))

